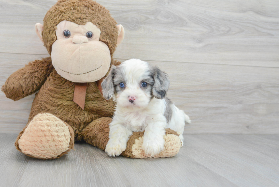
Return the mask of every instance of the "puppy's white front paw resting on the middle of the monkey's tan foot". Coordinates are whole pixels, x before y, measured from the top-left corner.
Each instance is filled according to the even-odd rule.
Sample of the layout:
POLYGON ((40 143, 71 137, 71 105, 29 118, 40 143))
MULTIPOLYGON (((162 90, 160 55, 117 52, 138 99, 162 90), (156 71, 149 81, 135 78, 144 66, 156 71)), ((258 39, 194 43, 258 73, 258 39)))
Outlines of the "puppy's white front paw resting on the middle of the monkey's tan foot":
POLYGON ((145 154, 154 156, 155 154, 159 154, 162 150, 164 150, 165 139, 163 137, 156 138, 156 139, 149 139, 144 138, 143 136, 143 143, 142 149, 144 150, 145 154))

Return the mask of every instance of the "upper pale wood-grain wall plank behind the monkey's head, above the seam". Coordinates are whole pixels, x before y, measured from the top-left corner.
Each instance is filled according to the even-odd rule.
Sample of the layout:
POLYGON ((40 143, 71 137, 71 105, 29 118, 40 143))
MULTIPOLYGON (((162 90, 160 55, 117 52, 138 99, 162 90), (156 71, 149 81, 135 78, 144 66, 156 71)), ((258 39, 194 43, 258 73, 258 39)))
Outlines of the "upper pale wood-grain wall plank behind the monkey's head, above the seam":
MULTIPOLYGON (((34 25, 55 2, 1 0, 0 52, 46 55, 34 25)), ((277 0, 97 2, 125 28, 118 59, 279 67, 277 0)))

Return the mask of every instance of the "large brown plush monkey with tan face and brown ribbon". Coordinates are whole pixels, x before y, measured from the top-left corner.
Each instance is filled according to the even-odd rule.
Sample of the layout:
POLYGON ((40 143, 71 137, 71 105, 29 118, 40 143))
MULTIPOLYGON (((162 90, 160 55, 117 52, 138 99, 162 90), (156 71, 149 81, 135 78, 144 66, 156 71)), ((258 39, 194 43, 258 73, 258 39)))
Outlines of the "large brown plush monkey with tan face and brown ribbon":
MULTIPOLYGON (((109 11, 91 0, 59 0, 35 31, 51 57, 35 60, 13 73, 2 87, 8 98, 19 100, 38 91, 29 120, 15 146, 34 158, 59 158, 74 141, 104 150, 115 103, 106 101, 100 83, 111 65, 116 46, 124 38, 122 25, 109 11)), ((122 153, 146 158, 143 132, 134 133, 122 153)), ((167 130, 165 150, 153 157, 174 156, 180 149, 176 132, 167 130)))

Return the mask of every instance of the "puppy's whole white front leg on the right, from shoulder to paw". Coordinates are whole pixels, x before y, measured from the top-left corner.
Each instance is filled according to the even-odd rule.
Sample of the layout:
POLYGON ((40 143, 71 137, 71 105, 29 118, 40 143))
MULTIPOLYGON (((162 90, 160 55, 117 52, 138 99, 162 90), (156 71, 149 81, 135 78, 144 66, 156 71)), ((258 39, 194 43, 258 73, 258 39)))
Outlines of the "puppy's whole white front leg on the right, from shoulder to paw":
POLYGON ((143 134, 142 148, 147 155, 159 154, 164 150, 167 121, 163 115, 152 116, 143 134))

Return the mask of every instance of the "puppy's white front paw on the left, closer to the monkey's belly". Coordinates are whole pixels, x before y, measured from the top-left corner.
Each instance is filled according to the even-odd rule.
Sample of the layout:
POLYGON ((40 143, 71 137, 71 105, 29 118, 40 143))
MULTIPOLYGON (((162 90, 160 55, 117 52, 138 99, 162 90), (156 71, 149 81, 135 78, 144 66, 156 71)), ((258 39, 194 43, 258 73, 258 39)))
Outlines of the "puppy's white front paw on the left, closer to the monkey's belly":
POLYGON ((106 144, 105 152, 109 156, 119 156, 123 151, 126 150, 126 146, 127 142, 110 139, 108 140, 108 144, 106 144))

